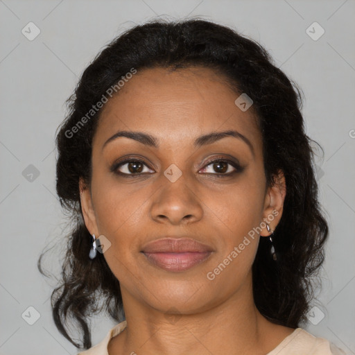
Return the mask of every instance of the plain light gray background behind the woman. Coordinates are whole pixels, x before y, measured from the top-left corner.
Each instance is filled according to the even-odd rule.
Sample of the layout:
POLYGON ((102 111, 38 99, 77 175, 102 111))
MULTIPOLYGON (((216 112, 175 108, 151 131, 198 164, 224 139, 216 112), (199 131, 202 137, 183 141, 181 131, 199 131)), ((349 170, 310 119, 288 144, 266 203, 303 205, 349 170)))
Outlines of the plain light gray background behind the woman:
MULTIPOLYGON (((121 31, 158 15, 200 16, 232 26, 265 46, 302 87, 306 131, 324 147, 318 179, 330 225, 323 288, 309 315, 318 324, 309 322, 306 330, 355 354, 352 0, 0 0, 0 354, 76 354, 51 318, 55 280, 44 279, 36 265, 42 250, 56 245, 44 262, 58 272, 65 246, 55 196, 55 130, 66 113, 64 101, 96 53, 121 31), (41 31, 32 41, 21 33, 30 21, 41 31), (306 33, 314 21, 325 31, 318 40, 306 33), (40 175, 31 175, 30 164, 40 175), (29 306, 40 313, 33 325, 28 322, 36 313, 29 306)), ((320 28, 313 27, 314 37, 320 28)), ((93 343, 113 325, 96 317, 93 343)))

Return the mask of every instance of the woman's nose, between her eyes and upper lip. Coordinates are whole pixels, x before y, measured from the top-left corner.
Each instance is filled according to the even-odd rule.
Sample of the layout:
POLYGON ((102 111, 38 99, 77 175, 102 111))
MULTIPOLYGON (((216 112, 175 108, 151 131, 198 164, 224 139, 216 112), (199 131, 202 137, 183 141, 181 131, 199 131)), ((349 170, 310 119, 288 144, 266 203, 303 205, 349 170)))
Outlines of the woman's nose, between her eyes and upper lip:
POLYGON ((153 220, 158 223, 181 225, 202 218, 203 209, 197 189, 188 186, 184 174, 175 182, 166 181, 155 196, 150 207, 153 220))

